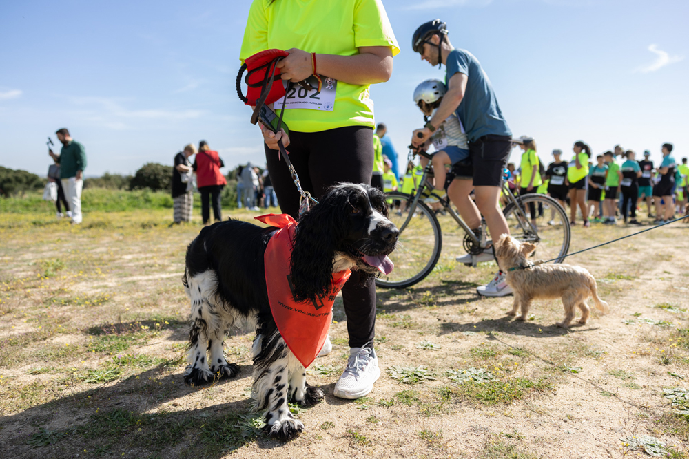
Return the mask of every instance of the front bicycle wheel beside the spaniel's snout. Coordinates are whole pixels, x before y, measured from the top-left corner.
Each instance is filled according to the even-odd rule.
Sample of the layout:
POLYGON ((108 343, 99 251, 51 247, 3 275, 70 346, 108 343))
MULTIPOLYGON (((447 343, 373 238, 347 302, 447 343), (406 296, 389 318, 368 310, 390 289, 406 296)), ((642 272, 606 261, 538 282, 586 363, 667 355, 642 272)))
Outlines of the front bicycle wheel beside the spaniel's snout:
MULTIPOLYGON (((392 191, 385 193, 388 202, 405 203, 405 211, 390 209, 390 220, 398 228, 409 216, 409 205, 413 196, 392 191)), ((393 204, 394 205, 394 204, 393 204)), ((438 263, 442 248, 442 233, 435 214, 423 202, 416 204, 414 215, 407 226, 400 233, 397 247, 389 255, 395 268, 389 275, 380 275, 376 279, 376 286, 382 288, 405 288, 413 286, 431 273, 438 263)))

